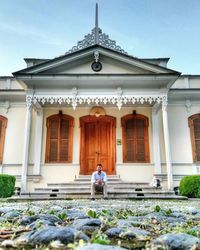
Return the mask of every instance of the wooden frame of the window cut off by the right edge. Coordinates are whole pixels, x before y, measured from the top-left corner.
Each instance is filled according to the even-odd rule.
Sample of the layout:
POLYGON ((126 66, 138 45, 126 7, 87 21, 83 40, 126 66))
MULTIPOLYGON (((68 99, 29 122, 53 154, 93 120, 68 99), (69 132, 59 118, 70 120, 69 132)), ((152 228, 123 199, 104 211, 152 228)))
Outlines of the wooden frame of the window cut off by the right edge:
POLYGON ((193 162, 198 163, 200 160, 197 159, 197 149, 196 149, 196 138, 194 134, 194 120, 200 119, 200 113, 191 115, 188 117, 188 125, 190 128, 190 139, 191 139, 191 144, 192 144, 192 157, 193 157, 193 162))

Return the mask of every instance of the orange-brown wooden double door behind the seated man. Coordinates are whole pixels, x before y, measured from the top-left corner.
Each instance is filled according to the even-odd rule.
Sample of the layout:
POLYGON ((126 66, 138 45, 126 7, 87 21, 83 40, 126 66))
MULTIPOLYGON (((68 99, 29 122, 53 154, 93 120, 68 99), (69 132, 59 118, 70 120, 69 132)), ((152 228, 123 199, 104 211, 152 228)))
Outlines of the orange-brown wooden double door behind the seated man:
POLYGON ((115 174, 116 119, 107 115, 83 116, 80 128, 80 174, 91 174, 98 163, 107 174, 115 174))

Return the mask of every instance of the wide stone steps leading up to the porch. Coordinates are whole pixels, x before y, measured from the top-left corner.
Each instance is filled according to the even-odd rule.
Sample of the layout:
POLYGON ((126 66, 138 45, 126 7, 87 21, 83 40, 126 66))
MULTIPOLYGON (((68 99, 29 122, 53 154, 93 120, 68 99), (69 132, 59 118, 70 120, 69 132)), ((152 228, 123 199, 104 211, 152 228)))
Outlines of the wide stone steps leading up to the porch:
MULTIPOLYGON (((46 188, 35 188, 34 192, 23 193, 22 199, 89 199, 91 176, 78 176, 73 182, 48 183, 46 188)), ((20 199, 19 197, 19 199, 20 199)), ((96 198, 102 198, 97 194, 96 198)), ((184 199, 174 191, 152 187, 147 182, 126 182, 119 176, 108 176, 109 199, 184 199)))

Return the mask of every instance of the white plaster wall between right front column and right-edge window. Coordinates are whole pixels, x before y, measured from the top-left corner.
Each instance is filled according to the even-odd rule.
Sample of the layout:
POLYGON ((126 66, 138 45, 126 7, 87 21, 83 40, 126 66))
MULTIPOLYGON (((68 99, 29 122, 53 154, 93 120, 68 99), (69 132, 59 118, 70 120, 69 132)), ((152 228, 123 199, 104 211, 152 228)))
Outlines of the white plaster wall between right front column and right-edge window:
MULTIPOLYGON (((169 133, 174 175, 191 175, 195 173, 192 158, 192 145, 188 117, 200 112, 198 105, 193 105, 190 112, 181 105, 169 105, 169 133)), ((176 181, 176 183, 178 183, 176 181)))

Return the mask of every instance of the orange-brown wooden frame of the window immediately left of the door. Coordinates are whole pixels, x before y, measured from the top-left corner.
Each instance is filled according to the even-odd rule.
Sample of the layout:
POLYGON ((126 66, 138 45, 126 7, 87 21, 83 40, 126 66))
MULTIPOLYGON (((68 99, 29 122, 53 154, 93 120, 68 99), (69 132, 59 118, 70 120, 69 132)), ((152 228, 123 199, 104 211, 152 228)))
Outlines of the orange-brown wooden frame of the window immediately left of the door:
POLYGON ((49 117, 47 117, 46 120, 46 129, 47 129, 47 134, 46 134, 46 154, 45 154, 45 163, 50 163, 50 164, 54 164, 54 163, 72 163, 72 146, 73 146, 73 127, 74 127, 74 118, 70 115, 66 115, 66 114, 55 114, 55 115, 51 115, 49 117), (60 159, 60 142, 61 142, 61 137, 60 137, 60 129, 61 129, 61 120, 67 120, 69 121, 69 142, 68 142, 68 160, 67 161, 60 161, 58 160, 58 158, 60 159), (58 152, 57 152, 57 161, 50 161, 50 122, 51 120, 58 120, 59 125, 58 125, 58 152))

